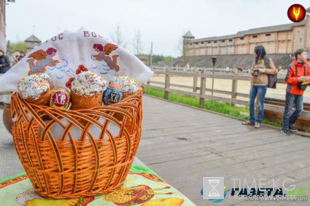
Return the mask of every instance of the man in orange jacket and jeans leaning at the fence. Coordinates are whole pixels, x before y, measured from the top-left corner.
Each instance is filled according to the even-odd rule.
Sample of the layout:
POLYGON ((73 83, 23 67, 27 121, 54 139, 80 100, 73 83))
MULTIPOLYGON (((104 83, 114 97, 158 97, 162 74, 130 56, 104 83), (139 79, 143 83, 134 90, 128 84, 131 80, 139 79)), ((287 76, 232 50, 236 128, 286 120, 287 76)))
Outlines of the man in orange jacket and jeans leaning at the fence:
POLYGON ((287 95, 285 96, 285 112, 283 114, 282 134, 290 135, 289 131, 296 132, 293 124, 296 123, 298 117, 303 110, 303 98, 305 86, 301 82, 310 81, 310 68, 307 65, 307 52, 305 50, 296 50, 296 59, 292 61, 287 69, 287 95), (293 104, 296 110, 291 114, 293 104))

